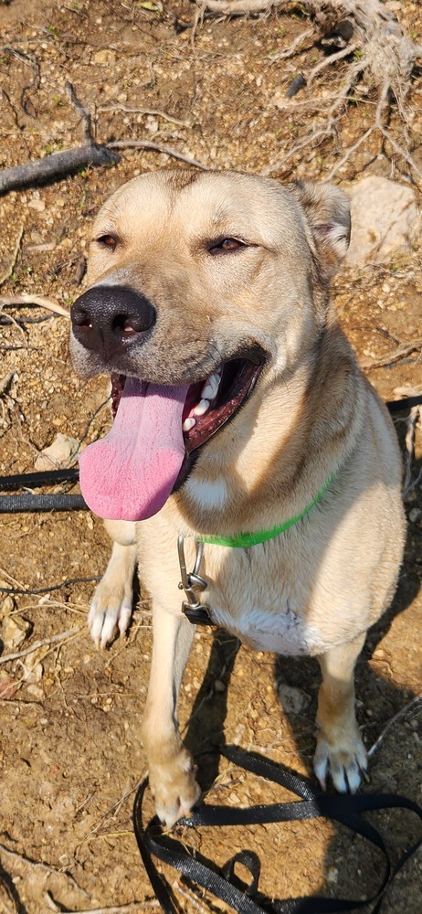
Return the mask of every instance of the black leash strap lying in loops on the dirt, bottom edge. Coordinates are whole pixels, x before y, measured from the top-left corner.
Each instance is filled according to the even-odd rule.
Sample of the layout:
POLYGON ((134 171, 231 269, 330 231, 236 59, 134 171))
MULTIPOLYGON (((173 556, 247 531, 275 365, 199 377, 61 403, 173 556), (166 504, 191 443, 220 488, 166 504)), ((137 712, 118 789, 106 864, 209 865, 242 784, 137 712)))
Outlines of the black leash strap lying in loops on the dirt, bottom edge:
POLYGON ((391 870, 390 859, 384 840, 374 825, 362 818, 361 813, 372 809, 409 809, 417 813, 422 822, 422 808, 417 803, 390 793, 343 794, 330 796, 315 789, 311 783, 304 781, 289 771, 282 770, 275 762, 250 755, 237 746, 226 746, 221 749, 226 758, 240 768, 250 771, 258 777, 267 778, 280 787, 296 793, 301 800, 278 802, 269 805, 252 806, 248 809, 213 806, 204 803, 191 816, 179 821, 179 825, 190 828, 212 825, 252 825, 276 822, 301 822, 305 819, 327 818, 346 825, 356 834, 378 847, 384 856, 384 873, 377 891, 370 897, 361 899, 348 898, 285 898, 270 899, 258 891, 259 860, 251 851, 240 851, 219 869, 206 857, 186 852, 185 846, 168 834, 164 834, 157 816, 145 827, 142 823, 142 800, 147 786, 147 779, 138 788, 133 805, 133 827, 142 862, 153 886, 164 914, 176 914, 177 906, 171 889, 158 873, 153 863, 153 856, 165 864, 174 866, 182 875, 196 886, 206 888, 216 898, 225 901, 239 914, 342 914, 363 908, 375 902, 372 914, 381 909, 385 891, 391 885, 396 873, 405 865, 406 860, 422 844, 422 838, 412 845, 400 858, 394 870, 391 870), (242 882, 235 873, 237 863, 246 866, 251 880, 249 885, 242 882))

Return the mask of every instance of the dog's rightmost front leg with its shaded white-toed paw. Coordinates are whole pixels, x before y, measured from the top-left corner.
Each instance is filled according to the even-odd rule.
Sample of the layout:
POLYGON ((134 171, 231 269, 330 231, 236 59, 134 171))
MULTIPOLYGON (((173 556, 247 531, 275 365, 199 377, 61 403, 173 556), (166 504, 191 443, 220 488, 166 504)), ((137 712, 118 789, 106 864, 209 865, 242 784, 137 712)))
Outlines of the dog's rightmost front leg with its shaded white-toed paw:
POLYGON ((313 760, 315 774, 325 789, 327 774, 337 791, 357 791, 366 770, 367 754, 354 711, 353 670, 365 635, 333 647, 318 657, 322 685, 318 695, 319 733, 313 760))

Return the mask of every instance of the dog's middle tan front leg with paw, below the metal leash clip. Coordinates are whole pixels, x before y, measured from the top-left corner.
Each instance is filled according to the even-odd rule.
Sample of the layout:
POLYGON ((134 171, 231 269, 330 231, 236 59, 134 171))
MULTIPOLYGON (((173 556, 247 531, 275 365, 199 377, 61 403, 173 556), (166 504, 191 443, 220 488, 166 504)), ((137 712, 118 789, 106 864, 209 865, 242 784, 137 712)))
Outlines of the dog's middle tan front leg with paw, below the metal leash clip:
POLYGON ((200 794, 177 721, 177 698, 194 633, 191 622, 153 602, 153 660, 142 740, 155 808, 169 827, 190 811, 200 794))

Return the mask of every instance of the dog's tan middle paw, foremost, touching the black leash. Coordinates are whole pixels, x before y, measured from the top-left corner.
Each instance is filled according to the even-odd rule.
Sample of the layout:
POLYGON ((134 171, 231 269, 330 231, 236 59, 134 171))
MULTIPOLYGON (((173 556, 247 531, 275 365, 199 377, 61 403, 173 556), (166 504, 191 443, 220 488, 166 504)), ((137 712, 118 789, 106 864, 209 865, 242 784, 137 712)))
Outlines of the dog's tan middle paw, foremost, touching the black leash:
POLYGON ((167 828, 190 813, 201 793, 194 761, 186 749, 180 749, 172 760, 150 765, 149 782, 156 813, 167 828))

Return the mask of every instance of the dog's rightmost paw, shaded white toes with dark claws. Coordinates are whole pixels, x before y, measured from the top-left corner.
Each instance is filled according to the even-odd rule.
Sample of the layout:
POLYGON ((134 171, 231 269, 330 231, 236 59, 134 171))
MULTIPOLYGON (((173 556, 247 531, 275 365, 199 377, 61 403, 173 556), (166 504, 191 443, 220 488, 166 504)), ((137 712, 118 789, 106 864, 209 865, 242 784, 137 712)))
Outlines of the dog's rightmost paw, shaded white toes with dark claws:
POLYGON ((352 737, 331 745, 321 734, 313 759, 313 771, 320 781, 322 790, 326 789, 327 777, 339 793, 355 793, 367 768, 367 753, 364 743, 356 730, 352 737))

